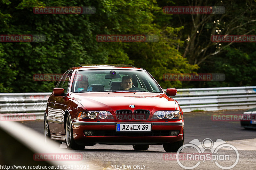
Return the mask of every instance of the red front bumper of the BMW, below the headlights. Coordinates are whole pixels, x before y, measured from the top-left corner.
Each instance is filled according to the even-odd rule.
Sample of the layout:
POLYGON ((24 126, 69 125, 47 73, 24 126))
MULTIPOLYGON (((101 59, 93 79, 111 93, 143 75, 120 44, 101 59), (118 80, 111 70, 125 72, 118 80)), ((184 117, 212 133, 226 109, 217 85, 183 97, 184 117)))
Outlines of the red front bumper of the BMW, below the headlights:
POLYGON ((183 120, 175 122, 83 122, 72 120, 74 140, 79 145, 162 145, 183 139, 183 120), (116 132, 117 123, 151 124, 151 132, 116 132), (84 131, 93 131, 92 136, 84 131), (176 136, 171 131, 180 131, 176 136))

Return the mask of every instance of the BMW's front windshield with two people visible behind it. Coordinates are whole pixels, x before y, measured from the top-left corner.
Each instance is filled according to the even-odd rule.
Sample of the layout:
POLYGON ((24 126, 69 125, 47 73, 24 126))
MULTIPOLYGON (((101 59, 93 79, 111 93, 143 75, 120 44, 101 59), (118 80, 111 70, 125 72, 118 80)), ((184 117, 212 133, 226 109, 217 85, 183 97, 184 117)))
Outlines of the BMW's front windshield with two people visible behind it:
POLYGON ((162 92, 156 81, 145 71, 136 70, 83 70, 77 71, 72 92, 107 91, 162 92))

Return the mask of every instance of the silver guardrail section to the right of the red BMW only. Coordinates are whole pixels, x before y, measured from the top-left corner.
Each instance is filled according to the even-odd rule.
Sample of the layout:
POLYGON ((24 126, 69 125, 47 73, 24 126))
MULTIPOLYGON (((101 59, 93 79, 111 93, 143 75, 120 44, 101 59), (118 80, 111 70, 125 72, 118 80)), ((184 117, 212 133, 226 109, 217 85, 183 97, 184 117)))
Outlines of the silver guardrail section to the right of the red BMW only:
POLYGON ((177 89, 173 99, 183 112, 251 109, 256 107, 256 86, 177 89))

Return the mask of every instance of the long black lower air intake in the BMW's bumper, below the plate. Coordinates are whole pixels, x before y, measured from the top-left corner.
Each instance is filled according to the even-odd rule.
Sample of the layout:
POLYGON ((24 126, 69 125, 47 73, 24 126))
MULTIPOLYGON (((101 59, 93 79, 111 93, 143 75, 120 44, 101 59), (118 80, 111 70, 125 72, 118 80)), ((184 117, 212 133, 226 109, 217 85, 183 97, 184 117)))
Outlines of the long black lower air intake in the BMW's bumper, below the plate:
POLYGON ((92 136, 106 137, 162 137, 172 136, 171 131, 151 131, 151 132, 116 132, 116 131, 93 131, 92 136))

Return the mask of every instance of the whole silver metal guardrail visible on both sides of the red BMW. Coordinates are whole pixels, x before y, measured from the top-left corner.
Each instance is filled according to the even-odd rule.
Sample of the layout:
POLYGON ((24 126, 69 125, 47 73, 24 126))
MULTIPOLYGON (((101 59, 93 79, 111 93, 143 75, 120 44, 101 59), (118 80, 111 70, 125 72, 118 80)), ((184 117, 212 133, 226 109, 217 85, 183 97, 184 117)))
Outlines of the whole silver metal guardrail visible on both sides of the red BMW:
MULTIPOLYGON (((164 89, 166 92, 166 89, 164 89)), ((233 110, 256 107, 256 86, 177 89, 173 97, 183 112, 233 110)), ((33 112, 43 119, 51 93, 0 93, 0 113, 33 112)))

